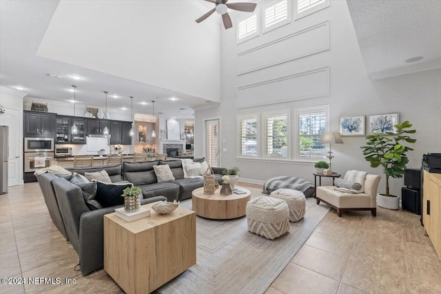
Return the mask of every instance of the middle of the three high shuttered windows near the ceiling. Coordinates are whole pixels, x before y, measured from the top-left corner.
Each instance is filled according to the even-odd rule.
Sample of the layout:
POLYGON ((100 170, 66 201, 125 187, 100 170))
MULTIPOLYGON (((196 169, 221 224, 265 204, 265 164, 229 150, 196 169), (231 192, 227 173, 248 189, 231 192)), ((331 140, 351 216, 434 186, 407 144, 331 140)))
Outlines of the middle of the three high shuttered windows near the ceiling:
POLYGON ((263 7, 263 32, 274 30, 291 21, 291 1, 282 0, 263 7))

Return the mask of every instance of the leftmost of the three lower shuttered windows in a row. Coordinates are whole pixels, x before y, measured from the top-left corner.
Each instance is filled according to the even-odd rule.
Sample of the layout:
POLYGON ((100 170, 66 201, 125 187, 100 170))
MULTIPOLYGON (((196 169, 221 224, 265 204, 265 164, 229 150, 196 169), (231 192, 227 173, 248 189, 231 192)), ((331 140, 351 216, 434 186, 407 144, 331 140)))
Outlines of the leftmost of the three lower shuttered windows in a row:
POLYGON ((239 146, 238 156, 258 155, 258 119, 257 115, 243 116, 238 118, 238 135, 239 146))

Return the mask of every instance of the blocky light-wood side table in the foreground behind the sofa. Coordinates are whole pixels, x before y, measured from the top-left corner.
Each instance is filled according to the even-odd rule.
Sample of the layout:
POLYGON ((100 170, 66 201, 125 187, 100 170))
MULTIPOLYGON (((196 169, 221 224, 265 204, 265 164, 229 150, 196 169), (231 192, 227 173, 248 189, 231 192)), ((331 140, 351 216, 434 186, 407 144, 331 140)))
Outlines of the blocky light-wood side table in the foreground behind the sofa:
POLYGON ((151 293, 196 264, 196 213, 178 207, 133 222, 104 216, 104 270, 126 293, 151 293))

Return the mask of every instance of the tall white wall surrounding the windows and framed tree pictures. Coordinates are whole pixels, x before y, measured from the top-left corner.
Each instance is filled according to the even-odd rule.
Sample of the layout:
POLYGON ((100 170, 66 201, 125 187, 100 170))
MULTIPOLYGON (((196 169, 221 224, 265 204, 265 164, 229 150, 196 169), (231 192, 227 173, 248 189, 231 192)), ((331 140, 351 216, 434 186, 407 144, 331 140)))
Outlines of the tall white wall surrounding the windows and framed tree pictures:
MULTIPOLYGON (((236 23, 234 23, 234 28, 236 28, 236 23)), ((250 180, 265 181, 274 176, 288 175, 306 178, 314 182, 314 176, 312 175, 314 162, 237 158, 236 130, 236 117, 238 115, 289 109, 291 118, 294 118, 294 109, 312 105, 330 105, 331 132, 338 132, 340 116, 365 115, 368 117, 369 114, 399 112, 400 122, 409 120, 417 130, 414 137, 418 141, 413 145, 415 151, 408 154, 409 168, 420 167, 422 154, 441 152, 441 70, 372 81, 365 71, 346 1, 331 1, 331 6, 325 10, 320 10, 298 21, 293 20, 288 25, 267 32, 240 45, 236 45, 235 30, 226 30, 221 37, 221 60, 223 65, 221 101, 217 108, 196 111, 195 125, 198 126, 195 129, 196 157, 204 155, 204 129, 201 127, 204 125, 204 120, 220 118, 221 141, 225 140, 222 148, 227 148, 227 152, 221 152, 220 166, 230 167, 236 165, 240 167, 241 177, 250 180), (238 76, 238 68, 241 68, 238 65, 238 54, 328 20, 330 30, 329 50, 238 76), (289 89, 292 95, 279 93, 278 96, 274 96, 271 86, 277 85, 278 81, 270 81, 267 83, 268 87, 265 85, 258 92, 259 97, 263 97, 267 105, 243 106, 243 101, 238 101, 238 90, 245 85, 276 80, 283 76, 322 67, 329 67, 329 94, 316 97, 312 95, 313 98, 296 100, 299 96, 298 93, 305 96, 305 93, 309 90, 311 93, 314 92, 312 88, 314 86, 300 84, 298 88, 289 89), (292 101, 271 102, 280 101, 280 98, 285 99, 287 97, 291 97, 292 101), (240 106, 240 109, 238 109, 238 106, 240 106)), ((302 40, 305 42, 308 40, 308 36, 304 37, 302 40)), ((312 35, 310 37, 312 38, 312 35)), ((315 37, 326 38, 326 35, 315 37)), ((303 44, 300 42, 296 46, 302 47, 303 44)), ((259 49, 253 52, 252 55, 256 60, 265 59, 263 52, 268 54, 267 48, 265 50, 259 49)), ((272 53, 284 55, 290 50, 299 52, 297 48, 289 46, 283 48, 283 50, 285 51, 282 53, 272 53)), ((243 96, 240 96, 240 98, 243 98, 243 96)), ((248 105, 253 103, 252 97, 247 96, 247 93, 245 93, 245 98, 247 98, 248 105)), ((291 122, 291 125, 293 124, 291 122)), ((294 136, 291 136, 291 138, 294 138, 294 136)), ((363 136, 353 136, 343 137, 343 140, 345 144, 332 146, 335 156, 332 160, 333 170, 344 174, 348 169, 359 169, 379 174, 382 176, 379 191, 384 191, 382 170, 380 168, 371 169, 362 156, 360 146, 364 144, 365 138, 363 136)), ((294 145, 294 141, 291 142, 291 145, 294 145)), ((292 150, 294 151, 294 149, 292 150)), ((330 180, 324 179, 323 183, 329 184, 330 180)), ((391 191, 396 195, 400 195, 402 185, 402 179, 392 179, 391 191)))

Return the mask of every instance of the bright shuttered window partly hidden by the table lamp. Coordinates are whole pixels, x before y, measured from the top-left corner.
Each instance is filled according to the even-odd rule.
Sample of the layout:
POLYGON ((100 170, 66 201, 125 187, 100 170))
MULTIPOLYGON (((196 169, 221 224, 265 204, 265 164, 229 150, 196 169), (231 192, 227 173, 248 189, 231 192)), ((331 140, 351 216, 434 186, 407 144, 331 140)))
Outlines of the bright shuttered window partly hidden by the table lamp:
POLYGON ((297 120, 297 159, 325 158, 325 145, 318 144, 320 135, 327 132, 329 106, 298 109, 297 120))

